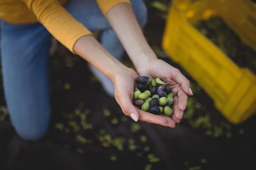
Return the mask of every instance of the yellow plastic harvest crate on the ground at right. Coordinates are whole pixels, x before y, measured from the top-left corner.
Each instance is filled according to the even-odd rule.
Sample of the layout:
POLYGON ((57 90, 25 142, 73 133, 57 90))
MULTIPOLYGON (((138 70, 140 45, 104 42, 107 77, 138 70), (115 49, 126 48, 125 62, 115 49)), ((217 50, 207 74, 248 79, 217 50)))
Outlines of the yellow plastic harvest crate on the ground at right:
POLYGON ((162 47, 213 99, 233 124, 256 111, 256 76, 239 68, 192 23, 221 17, 241 40, 256 50, 256 5, 250 0, 173 0, 162 47))

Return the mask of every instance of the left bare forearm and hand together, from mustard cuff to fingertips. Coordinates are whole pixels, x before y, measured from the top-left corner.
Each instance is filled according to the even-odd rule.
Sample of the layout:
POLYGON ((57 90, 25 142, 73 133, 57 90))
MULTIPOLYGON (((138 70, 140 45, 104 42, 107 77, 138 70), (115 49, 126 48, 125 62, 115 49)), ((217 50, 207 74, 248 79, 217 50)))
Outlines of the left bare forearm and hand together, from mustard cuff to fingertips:
MULTIPOLYGON (((170 117, 154 115, 142 111, 133 105, 135 79, 139 75, 136 71, 125 67, 125 65, 122 65, 121 62, 111 56, 94 37, 81 37, 77 40, 74 51, 111 79, 115 86, 116 101, 125 115, 131 116, 136 122, 137 120, 141 120, 163 126, 175 127, 175 122, 170 117)), ((144 73, 146 74, 147 71, 144 73)))

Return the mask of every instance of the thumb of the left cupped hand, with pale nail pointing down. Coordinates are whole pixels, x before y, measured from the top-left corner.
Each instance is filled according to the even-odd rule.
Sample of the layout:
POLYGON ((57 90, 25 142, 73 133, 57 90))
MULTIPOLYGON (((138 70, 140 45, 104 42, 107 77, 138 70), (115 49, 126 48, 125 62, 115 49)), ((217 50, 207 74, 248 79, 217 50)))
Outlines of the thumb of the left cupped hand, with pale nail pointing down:
POLYGON ((140 113, 137 108, 132 104, 131 99, 127 96, 122 96, 120 98, 120 102, 122 105, 122 111, 126 116, 130 116, 135 122, 137 122, 140 118, 140 113))

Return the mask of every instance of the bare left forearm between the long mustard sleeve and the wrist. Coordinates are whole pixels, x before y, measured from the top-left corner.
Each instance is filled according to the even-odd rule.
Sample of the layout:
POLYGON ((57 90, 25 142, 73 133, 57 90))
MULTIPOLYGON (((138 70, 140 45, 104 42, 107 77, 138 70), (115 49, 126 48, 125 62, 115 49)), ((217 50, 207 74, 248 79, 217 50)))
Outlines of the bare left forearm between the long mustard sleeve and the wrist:
POLYGON ((91 35, 79 38, 73 50, 83 59, 90 62, 105 76, 113 81, 114 76, 125 70, 125 65, 108 53, 105 48, 91 35))

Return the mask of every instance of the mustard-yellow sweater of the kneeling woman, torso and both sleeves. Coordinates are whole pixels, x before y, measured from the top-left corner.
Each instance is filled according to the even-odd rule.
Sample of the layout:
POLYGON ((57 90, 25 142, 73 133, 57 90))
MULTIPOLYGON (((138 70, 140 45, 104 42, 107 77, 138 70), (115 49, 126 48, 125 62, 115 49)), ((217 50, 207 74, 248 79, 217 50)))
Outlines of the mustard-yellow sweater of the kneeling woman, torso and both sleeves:
MULTIPOLYGON (((0 0, 0 19, 8 23, 39 22, 71 52, 76 40, 92 34, 63 7, 68 0, 0 0)), ((130 0, 96 0, 102 13, 130 0)))

